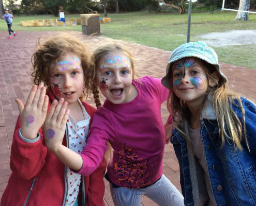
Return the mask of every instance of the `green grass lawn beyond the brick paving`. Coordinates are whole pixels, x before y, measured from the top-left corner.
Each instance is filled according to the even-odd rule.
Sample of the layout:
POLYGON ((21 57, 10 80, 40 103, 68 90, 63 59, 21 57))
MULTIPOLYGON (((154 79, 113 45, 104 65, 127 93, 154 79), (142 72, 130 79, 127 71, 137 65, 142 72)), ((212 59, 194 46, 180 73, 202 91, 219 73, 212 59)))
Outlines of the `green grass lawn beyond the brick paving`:
MULTIPOLYGON (((101 15, 102 16, 102 15, 101 15)), ((202 40, 199 35, 209 32, 224 32, 232 29, 256 29, 256 15, 249 14, 249 21, 234 21, 236 12, 192 13, 190 41, 202 40)), ((66 15, 78 18, 79 15, 66 15)), ((101 24, 101 34, 113 39, 136 42, 164 50, 173 50, 187 41, 188 15, 171 13, 148 13, 147 11, 108 14, 111 23, 101 24)), ((20 21, 54 19, 51 15, 16 16, 13 28, 17 30, 76 30, 81 25, 61 27, 22 27, 20 21)), ((0 30, 7 30, 0 22, 0 30)), ((246 33, 245 33, 246 35, 246 33)), ((256 68, 254 54, 256 45, 214 47, 219 60, 239 66, 256 68)))

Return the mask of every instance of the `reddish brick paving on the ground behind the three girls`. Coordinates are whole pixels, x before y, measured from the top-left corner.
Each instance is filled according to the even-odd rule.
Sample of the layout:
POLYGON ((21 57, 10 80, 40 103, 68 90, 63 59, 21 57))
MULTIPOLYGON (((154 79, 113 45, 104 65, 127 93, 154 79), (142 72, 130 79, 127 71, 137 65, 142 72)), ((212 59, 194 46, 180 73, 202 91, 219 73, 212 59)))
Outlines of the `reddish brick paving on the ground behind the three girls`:
MULTIPOLYGON (((14 99, 23 102, 31 89, 31 56, 38 37, 42 40, 53 37, 59 32, 20 31, 17 37, 8 40, 8 32, 0 31, 0 198, 8 182, 10 168, 10 147, 16 119, 19 115, 14 99)), ((101 42, 112 41, 103 37, 87 37, 80 32, 69 32, 81 40, 89 49, 94 49, 101 42)), ((150 75, 162 77, 165 72, 170 52, 139 44, 122 42, 130 48, 135 57, 138 77, 150 75)), ((222 71, 229 78, 230 87, 246 96, 256 99, 256 70, 229 64, 221 64, 222 71)), ((256 66, 255 66, 256 67, 256 66)), ((88 100, 93 105, 92 100, 88 100)), ((165 105, 162 106, 163 121, 168 116, 165 105)), ((171 144, 165 146, 164 174, 180 190, 179 168, 171 144)), ((17 188, 17 190, 19 190, 17 188)), ((106 182, 106 204, 113 205, 109 184, 106 182)), ((154 202, 142 197, 142 205, 153 206, 154 202)))

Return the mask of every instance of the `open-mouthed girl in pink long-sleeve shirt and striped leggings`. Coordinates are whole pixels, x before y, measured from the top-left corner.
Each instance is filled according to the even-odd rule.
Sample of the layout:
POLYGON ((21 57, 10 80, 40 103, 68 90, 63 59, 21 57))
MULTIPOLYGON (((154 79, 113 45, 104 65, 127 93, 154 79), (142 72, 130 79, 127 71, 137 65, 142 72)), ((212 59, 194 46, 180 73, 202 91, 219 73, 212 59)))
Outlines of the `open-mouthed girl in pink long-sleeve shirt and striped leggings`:
MULTIPOLYGON (((71 151, 61 144, 63 136, 56 132, 47 147, 69 168, 89 175, 102 161, 109 141, 113 158, 106 178, 115 205, 139 206, 142 194, 162 206, 184 205, 183 196, 162 174, 165 135, 161 104, 167 100, 168 90, 160 79, 135 80, 131 55, 119 45, 99 47, 93 57, 94 97, 98 99, 99 88, 106 101, 94 115, 85 149, 81 154, 71 151)), ((45 126, 52 129, 51 116, 46 122, 48 119, 45 126)))

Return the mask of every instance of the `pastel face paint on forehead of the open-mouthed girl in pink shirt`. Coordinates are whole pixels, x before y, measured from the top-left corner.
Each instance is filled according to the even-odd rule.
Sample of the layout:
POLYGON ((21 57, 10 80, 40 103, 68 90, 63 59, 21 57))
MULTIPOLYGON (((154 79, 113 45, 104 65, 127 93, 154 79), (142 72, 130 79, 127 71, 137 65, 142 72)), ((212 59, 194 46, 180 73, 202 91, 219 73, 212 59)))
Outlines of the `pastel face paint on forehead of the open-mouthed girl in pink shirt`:
POLYGON ((114 67, 114 68, 119 68, 119 67, 129 67, 130 66, 130 60, 126 56, 119 56, 119 55, 114 55, 114 56, 108 56, 101 64, 100 67, 103 68, 108 68, 108 67, 114 67))

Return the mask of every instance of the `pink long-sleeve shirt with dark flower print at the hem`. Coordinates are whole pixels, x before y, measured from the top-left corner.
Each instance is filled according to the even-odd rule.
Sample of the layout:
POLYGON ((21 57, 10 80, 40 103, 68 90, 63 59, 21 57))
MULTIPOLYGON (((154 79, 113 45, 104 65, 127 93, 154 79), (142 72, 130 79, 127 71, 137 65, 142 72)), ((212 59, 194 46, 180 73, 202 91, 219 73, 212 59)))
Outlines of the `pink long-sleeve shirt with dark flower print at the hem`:
POLYGON ((96 111, 89 139, 81 153, 83 166, 79 174, 91 174, 108 149, 113 159, 108 165, 110 181, 127 188, 141 188, 157 181, 162 175, 165 133, 161 104, 169 90, 160 79, 144 77, 132 82, 138 96, 132 101, 115 105, 106 100, 96 111))

